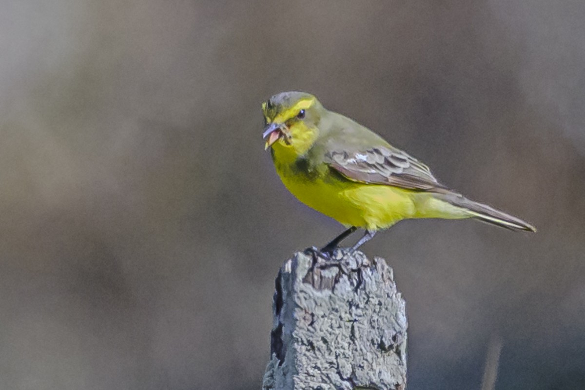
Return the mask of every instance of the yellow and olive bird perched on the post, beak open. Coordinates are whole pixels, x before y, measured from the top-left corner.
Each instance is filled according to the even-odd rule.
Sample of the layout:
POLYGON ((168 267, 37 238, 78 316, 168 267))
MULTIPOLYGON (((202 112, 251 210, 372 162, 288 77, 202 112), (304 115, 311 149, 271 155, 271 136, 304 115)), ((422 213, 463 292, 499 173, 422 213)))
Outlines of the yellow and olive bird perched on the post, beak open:
POLYGON ((347 227, 321 251, 358 228, 357 249, 402 219, 475 218, 511 230, 534 226, 445 187, 429 168, 311 94, 282 92, 262 103, 263 138, 285 187, 305 205, 347 227))

